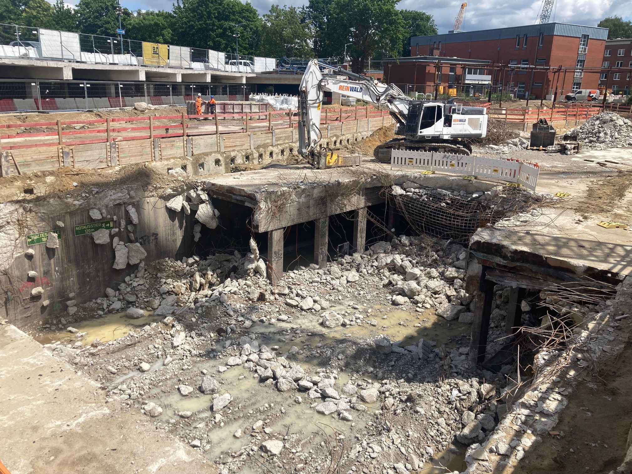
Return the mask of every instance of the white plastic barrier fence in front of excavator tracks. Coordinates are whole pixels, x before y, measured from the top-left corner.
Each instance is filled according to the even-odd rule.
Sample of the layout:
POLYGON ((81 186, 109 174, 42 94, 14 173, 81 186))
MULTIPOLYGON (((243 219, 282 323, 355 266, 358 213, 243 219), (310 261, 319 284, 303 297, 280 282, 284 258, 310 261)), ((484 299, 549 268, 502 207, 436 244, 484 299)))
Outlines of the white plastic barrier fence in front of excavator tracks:
POLYGON ((501 179, 507 183, 519 183, 533 191, 535 191, 540 173, 540 167, 537 163, 515 159, 502 160, 480 156, 406 150, 391 150, 391 169, 442 171, 464 176, 501 179))

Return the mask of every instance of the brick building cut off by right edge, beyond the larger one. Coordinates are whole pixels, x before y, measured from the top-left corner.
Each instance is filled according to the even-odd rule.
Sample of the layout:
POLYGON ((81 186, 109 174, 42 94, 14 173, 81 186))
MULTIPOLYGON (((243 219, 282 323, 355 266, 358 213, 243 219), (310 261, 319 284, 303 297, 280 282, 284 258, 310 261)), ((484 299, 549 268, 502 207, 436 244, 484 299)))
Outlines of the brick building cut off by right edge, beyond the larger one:
POLYGON ((612 94, 632 92, 632 39, 607 40, 599 78, 600 87, 612 94))

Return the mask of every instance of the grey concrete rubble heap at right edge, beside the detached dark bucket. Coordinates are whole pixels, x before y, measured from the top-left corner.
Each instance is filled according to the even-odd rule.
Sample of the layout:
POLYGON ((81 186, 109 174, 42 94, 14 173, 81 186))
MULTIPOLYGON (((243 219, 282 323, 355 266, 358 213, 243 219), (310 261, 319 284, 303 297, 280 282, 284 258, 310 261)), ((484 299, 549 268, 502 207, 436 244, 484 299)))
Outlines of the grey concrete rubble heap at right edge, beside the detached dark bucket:
POLYGON ((577 135, 590 150, 629 147, 632 145, 632 121, 614 112, 602 112, 568 132, 577 135))

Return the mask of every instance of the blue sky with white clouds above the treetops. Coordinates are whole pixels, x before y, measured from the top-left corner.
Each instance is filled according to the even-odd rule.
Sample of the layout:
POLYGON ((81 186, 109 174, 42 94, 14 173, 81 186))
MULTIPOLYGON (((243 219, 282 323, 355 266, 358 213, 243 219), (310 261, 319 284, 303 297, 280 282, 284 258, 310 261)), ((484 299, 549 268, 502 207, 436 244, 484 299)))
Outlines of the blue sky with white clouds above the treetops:
MULTIPOLYGON (((68 1, 68 0, 66 0, 68 1)), ((78 1, 78 0, 77 0, 78 1)), ((71 0, 69 3, 76 3, 71 0)), ((129 9, 171 9, 174 0, 121 0, 129 9)), ((251 0, 259 13, 266 13, 273 3, 300 6, 307 0, 251 0)), ((483 30, 487 28, 514 27, 532 25, 538 17, 542 0, 486 0, 468 2, 465 21, 461 31, 483 30)), ((454 17, 459 11, 461 0, 437 2, 434 0, 401 0, 399 8, 427 11, 435 18, 439 33, 451 30, 454 17)), ((632 20, 630 0, 556 0, 552 20, 576 25, 596 26, 599 20, 607 16, 623 16, 632 20)))

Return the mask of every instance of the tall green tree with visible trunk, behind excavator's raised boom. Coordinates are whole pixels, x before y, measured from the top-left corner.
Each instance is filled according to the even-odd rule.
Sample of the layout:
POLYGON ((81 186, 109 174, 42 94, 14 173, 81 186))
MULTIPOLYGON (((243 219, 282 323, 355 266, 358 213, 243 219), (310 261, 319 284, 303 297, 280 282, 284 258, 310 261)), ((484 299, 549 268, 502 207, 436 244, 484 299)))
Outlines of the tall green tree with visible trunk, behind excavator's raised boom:
POLYGON ((395 8, 399 0, 333 0, 327 12, 327 37, 339 54, 351 42, 351 70, 364 71, 368 58, 397 56, 406 35, 395 8))

